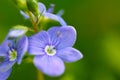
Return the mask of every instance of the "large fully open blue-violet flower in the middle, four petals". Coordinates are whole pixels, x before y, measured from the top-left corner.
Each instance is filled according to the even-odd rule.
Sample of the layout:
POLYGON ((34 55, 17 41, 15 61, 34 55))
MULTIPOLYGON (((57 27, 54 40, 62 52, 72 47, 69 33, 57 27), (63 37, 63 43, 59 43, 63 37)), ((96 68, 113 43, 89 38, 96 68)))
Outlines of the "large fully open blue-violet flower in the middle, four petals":
POLYGON ((81 52, 72 48, 76 40, 76 30, 71 26, 53 27, 28 40, 28 52, 36 55, 35 66, 49 76, 63 74, 63 62, 75 62, 83 57, 81 52))

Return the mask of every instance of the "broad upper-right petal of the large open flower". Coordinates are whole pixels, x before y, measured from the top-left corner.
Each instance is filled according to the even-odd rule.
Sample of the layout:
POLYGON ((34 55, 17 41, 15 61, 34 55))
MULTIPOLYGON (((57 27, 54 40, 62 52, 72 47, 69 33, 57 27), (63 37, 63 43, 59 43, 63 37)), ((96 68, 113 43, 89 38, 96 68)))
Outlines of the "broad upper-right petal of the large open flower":
POLYGON ((50 34, 50 38, 54 45, 56 45, 55 42, 58 40, 58 45, 56 46, 57 49, 71 47, 76 40, 76 30, 71 26, 53 27, 48 30, 48 33, 50 34))

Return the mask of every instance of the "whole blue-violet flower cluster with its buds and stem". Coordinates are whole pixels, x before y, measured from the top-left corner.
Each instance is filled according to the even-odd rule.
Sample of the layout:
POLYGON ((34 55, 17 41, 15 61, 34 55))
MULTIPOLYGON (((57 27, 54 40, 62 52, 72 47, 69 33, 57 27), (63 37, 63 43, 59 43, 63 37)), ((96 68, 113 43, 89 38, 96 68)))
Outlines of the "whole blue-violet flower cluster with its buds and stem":
POLYGON ((20 64, 25 53, 33 55, 33 63, 48 76, 60 76, 64 73, 64 62, 75 62, 83 55, 73 45, 76 41, 76 30, 63 20, 63 11, 53 14, 54 4, 47 10, 45 5, 36 0, 14 0, 25 19, 31 20, 33 27, 22 25, 10 29, 0 45, 0 80, 6 80, 12 66, 20 64), (53 20, 59 23, 43 30, 42 22, 53 20), (26 36, 26 33, 32 35, 26 36))

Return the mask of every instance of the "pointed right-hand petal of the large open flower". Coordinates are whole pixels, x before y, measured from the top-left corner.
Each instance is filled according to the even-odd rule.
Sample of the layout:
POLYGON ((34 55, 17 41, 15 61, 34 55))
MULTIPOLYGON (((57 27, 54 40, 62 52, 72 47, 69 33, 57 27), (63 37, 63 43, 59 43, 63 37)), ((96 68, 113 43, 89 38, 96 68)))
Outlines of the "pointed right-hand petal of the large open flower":
POLYGON ((59 50, 57 55, 65 62, 75 62, 83 58, 81 52, 72 47, 59 50))

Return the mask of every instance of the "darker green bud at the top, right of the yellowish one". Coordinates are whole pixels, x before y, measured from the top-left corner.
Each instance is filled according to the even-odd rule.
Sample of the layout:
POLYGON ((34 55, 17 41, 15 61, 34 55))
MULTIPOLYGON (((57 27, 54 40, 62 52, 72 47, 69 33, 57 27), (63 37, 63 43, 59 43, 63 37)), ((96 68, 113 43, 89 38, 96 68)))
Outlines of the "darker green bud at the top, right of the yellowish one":
POLYGON ((27 8, 31 11, 35 16, 39 15, 38 3, 36 0, 27 0, 27 8))

